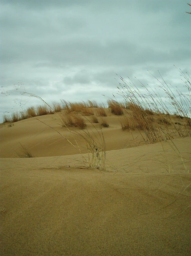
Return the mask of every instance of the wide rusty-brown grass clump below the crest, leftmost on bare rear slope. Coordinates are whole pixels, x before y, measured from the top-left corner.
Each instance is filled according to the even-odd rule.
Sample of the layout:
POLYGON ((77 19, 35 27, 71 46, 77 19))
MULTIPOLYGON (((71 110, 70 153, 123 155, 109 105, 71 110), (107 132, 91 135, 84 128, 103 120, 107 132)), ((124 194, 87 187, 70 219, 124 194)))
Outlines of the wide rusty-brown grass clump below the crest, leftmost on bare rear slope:
POLYGON ((86 123, 84 119, 78 115, 66 115, 61 118, 62 126, 64 127, 77 127, 80 129, 86 128, 86 123))

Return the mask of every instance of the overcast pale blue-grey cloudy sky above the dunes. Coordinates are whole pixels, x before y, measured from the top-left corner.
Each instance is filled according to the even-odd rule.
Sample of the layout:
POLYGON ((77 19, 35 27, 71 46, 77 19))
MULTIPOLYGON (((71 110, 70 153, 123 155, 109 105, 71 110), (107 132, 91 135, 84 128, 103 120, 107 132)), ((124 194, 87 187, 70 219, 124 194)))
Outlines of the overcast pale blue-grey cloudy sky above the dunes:
MULTIPOLYGON (((0 117, 67 101, 121 99, 119 76, 156 87, 148 70, 184 90, 191 74, 190 0, 1 0, 0 117), (22 85, 22 87, 18 87, 22 85), (15 87, 16 86, 16 87, 15 87), (16 90, 19 88, 19 90, 16 90), (13 90, 13 91, 12 91, 13 90), (105 95, 105 96, 102 96, 105 95)), ((138 83, 138 84, 137 84, 138 83)))

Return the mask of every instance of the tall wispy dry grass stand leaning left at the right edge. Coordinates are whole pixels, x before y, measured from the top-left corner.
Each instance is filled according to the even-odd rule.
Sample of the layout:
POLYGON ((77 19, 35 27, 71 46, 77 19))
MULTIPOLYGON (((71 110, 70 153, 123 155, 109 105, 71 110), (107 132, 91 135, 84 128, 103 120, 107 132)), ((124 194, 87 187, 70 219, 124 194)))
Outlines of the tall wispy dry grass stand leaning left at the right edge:
POLYGON ((132 124, 133 122, 137 122, 139 129, 144 131, 142 138, 146 143, 190 136, 191 129, 189 125, 185 124, 190 123, 191 83, 183 72, 181 72, 181 76, 185 79, 185 87, 188 89, 188 94, 182 94, 177 88, 171 89, 163 79, 162 82, 157 79, 160 82, 160 89, 167 95, 166 101, 152 88, 149 91, 148 87, 144 87, 141 84, 140 91, 131 80, 127 82, 120 77, 123 83, 120 83, 121 88, 118 87, 118 89, 124 97, 125 102, 128 102, 129 109, 133 112, 131 123, 127 120, 121 121, 122 129, 131 129, 131 126, 134 129, 134 125, 132 124), (179 114, 177 114, 177 117, 185 120, 184 125, 177 125, 177 122, 174 122, 173 118, 177 117, 171 114, 167 104, 174 109, 173 113, 179 114))

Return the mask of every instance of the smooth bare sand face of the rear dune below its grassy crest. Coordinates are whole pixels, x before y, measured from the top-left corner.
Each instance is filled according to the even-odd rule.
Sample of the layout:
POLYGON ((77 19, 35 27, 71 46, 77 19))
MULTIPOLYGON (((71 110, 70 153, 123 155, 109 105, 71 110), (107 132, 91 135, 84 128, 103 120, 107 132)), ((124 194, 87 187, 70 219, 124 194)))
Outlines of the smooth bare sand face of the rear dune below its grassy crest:
MULTIPOLYGON (((107 144, 107 150, 122 149, 126 147, 134 146, 132 142, 132 135, 130 132, 123 132, 119 122, 119 116, 112 115, 108 112, 107 120, 109 122, 109 128, 102 128, 103 135, 107 144)), ((8 125, 2 125, 0 128, 0 140, 1 157, 18 157, 18 154, 22 154, 21 145, 24 145, 27 149, 30 149, 34 157, 45 157, 45 156, 67 156, 79 153, 70 143, 68 143, 61 135, 59 135, 53 129, 59 131, 63 136, 66 136, 72 143, 74 138, 67 129, 61 126, 61 121, 57 115, 47 115, 37 117, 40 121, 35 118, 29 118, 14 123, 14 126, 8 127, 8 125), (43 123, 42 123, 43 122, 43 123), (46 123, 47 125, 45 125, 46 123), (51 128, 53 127, 53 129, 51 128)), ((90 119, 90 117, 87 117, 90 119)), ((101 117, 98 117, 101 121, 101 117)), ((90 125, 86 120, 88 126, 91 127, 92 132, 101 130, 100 124, 94 124, 95 128, 90 125)), ((92 133, 91 132, 91 133, 92 133)), ((96 136, 98 133, 96 132, 96 136)), ((138 131, 134 131, 135 138, 142 140, 138 131)), ((76 135, 78 143, 83 147, 81 138, 76 135)), ((86 149, 82 149, 82 152, 87 152, 86 149)))

